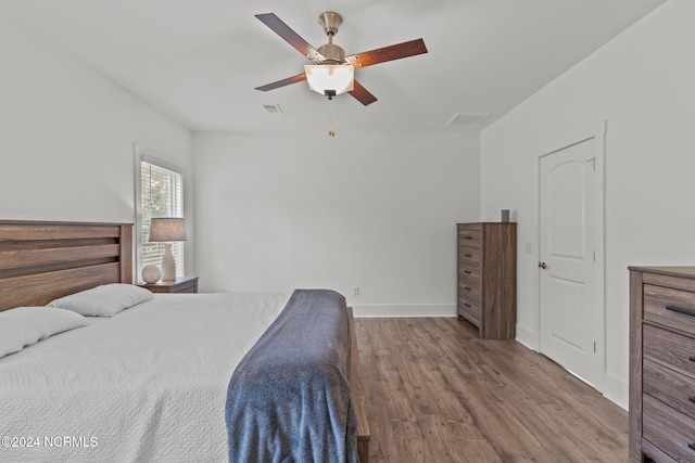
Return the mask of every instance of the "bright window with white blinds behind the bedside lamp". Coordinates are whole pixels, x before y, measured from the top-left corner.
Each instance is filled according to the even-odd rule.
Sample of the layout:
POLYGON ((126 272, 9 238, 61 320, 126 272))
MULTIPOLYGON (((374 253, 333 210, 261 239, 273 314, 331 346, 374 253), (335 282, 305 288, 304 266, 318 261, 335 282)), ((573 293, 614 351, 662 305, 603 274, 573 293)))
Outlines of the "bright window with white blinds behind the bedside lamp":
MULTIPOLYGON (((150 243, 150 219, 184 217, 184 176, 176 168, 166 166, 136 145, 136 223, 137 275, 150 263, 160 266, 164 243, 150 243)), ((172 243, 177 276, 184 275, 184 242, 172 243)))

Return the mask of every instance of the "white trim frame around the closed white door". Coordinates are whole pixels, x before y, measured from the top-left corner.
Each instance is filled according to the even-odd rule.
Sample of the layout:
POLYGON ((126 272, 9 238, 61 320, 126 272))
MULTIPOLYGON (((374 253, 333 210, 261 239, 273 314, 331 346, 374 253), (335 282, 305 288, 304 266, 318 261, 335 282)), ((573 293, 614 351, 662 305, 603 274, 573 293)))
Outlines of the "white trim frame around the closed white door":
MULTIPOLYGON (((596 346, 597 358, 602 361, 602 370, 604 372, 601 384, 594 385, 594 387, 603 393, 605 385, 606 374, 606 258, 605 258, 605 241, 606 241, 606 228, 605 228, 605 196, 606 196, 606 177, 605 177, 605 157, 606 157, 606 120, 598 124, 594 124, 583 130, 574 132, 569 136, 556 139, 554 142, 546 145, 544 150, 541 150, 541 154, 536 158, 536 257, 541 256, 541 160, 554 153, 560 152, 567 147, 583 143, 589 140, 594 140, 594 168, 596 172, 595 181, 595 250, 596 250, 596 303, 601 306, 603 326, 601 333, 601 345, 596 346)), ((538 351, 542 351, 542 323, 541 323, 541 270, 536 273, 536 309, 535 309, 535 342, 538 351)))

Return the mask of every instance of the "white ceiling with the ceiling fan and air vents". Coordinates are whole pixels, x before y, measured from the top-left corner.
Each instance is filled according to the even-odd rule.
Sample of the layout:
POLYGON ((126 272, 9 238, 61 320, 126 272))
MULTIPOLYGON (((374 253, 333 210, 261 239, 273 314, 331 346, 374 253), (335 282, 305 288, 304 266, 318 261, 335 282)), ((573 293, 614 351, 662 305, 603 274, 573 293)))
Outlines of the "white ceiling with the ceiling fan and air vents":
POLYGON ((346 54, 420 37, 429 50, 357 70, 379 101, 338 97, 337 131, 460 131, 495 120, 664 1, 0 0, 0 12, 191 130, 301 132, 329 126, 329 103, 305 82, 254 90, 308 63, 254 14, 277 14, 318 48, 318 15, 337 11, 346 54), (492 116, 447 125, 457 113, 492 116))

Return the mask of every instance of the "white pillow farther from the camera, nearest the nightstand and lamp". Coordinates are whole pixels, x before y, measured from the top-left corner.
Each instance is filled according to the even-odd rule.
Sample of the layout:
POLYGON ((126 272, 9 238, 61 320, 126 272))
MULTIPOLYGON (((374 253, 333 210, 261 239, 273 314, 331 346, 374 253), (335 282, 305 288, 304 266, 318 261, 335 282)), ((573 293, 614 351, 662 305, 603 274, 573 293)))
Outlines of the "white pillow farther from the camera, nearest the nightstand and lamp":
POLYGON ((113 317, 119 311, 153 299, 154 295, 132 284, 112 283, 52 300, 48 307, 59 307, 85 317, 113 317))

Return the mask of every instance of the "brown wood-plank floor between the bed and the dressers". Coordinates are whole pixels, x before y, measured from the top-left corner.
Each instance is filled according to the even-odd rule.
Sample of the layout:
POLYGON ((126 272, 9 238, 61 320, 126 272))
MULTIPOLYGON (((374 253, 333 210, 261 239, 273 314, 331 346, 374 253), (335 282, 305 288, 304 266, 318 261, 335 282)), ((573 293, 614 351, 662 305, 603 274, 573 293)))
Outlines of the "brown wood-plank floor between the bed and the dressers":
POLYGON ((355 319, 370 463, 627 462, 628 413, 455 318, 355 319))

